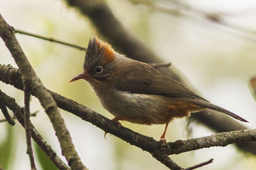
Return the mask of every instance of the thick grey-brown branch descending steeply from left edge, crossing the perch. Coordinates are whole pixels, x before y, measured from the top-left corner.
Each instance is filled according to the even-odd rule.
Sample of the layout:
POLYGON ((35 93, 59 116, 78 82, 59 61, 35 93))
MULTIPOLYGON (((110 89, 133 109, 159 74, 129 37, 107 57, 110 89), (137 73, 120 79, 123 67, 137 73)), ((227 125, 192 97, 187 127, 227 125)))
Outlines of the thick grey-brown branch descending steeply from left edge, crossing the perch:
POLYGON ((62 154, 65 156, 69 166, 71 169, 86 169, 74 148, 69 131, 64 123, 64 119, 61 117, 58 106, 53 100, 51 94, 45 89, 41 80, 36 76, 35 71, 31 67, 14 35, 14 29, 5 22, 1 14, 0 36, 11 52, 16 64, 20 68, 22 77, 28 81, 34 96, 39 99, 41 105, 45 109, 45 112, 50 118, 54 130, 56 131, 56 136, 60 142, 62 154))

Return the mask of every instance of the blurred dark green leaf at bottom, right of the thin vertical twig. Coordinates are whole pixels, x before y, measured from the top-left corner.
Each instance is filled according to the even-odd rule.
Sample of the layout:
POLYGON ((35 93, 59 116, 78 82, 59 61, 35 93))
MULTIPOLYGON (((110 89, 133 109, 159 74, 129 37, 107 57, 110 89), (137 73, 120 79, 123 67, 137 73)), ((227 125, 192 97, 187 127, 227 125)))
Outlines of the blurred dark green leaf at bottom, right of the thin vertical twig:
POLYGON ((39 146, 35 143, 35 155, 36 155, 36 159, 38 159, 38 161, 40 162, 40 165, 42 167, 42 169, 44 170, 57 170, 58 168, 52 163, 52 161, 47 157, 47 155, 44 153, 44 151, 42 151, 41 148, 39 148, 39 146))

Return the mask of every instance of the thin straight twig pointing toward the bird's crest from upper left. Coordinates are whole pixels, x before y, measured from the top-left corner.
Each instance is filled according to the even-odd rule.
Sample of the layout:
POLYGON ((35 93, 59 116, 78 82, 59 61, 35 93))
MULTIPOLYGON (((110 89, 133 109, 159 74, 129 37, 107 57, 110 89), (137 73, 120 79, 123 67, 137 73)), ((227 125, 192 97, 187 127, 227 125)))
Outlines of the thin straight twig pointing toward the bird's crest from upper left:
POLYGON ((77 45, 67 43, 67 42, 64 42, 64 41, 61 41, 61 40, 56 40, 55 38, 50 38, 50 37, 45 37, 45 36, 38 35, 38 34, 33 34, 33 33, 30 33, 30 32, 27 32, 27 31, 19 30, 19 29, 15 29, 15 33, 20 33, 20 34, 28 35, 28 36, 31 36, 31 37, 36 37, 36 38, 39 38, 39 39, 42 39, 42 40, 47 40, 47 41, 51 41, 51 42, 55 42, 55 43, 59 43, 59 44, 64 44, 66 46, 71 46, 71 47, 74 47, 74 48, 77 48, 77 49, 80 49, 80 50, 84 50, 84 51, 86 50, 86 48, 84 48, 82 46, 77 46, 77 45))

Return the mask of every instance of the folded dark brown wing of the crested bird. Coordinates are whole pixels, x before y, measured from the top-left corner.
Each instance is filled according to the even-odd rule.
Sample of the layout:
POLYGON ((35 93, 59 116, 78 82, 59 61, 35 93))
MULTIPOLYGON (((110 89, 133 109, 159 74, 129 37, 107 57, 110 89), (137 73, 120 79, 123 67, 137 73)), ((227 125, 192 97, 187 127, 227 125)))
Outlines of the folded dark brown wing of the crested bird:
POLYGON ((170 77, 163 76, 161 74, 153 74, 154 76, 139 75, 139 73, 137 74, 136 79, 132 78, 128 74, 125 78, 123 77, 122 79, 118 80, 115 88, 121 91, 130 91, 131 93, 160 94, 170 97, 192 97, 209 102, 170 77))

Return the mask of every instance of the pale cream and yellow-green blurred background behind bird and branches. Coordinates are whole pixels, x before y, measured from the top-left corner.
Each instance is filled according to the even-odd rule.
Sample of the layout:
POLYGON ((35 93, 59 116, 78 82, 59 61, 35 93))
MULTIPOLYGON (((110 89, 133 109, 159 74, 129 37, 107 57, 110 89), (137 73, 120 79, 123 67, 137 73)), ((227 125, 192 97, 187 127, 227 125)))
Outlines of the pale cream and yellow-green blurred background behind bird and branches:
MULTIPOLYGON (((119 21, 166 62, 172 62, 180 76, 212 103, 228 109, 256 124, 256 103, 248 88, 248 79, 256 74, 256 1, 106 1, 119 21), (205 15, 207 14, 207 15, 205 15), (207 16, 207 17, 206 17, 207 16)), ((0 13, 14 28, 54 37, 87 47, 90 37, 104 39, 89 18, 64 0, 1 0, 0 13)), ((68 83, 82 71, 84 51, 45 40, 16 34, 37 76, 45 87, 77 101, 108 117, 86 81, 68 83)), ((115 48, 115 46, 114 46, 115 48)), ((0 40, 0 63, 17 68, 10 52, 0 40)), ((0 89, 23 104, 23 91, 0 82, 0 89)), ((61 156, 52 124, 39 101, 32 97, 31 112, 39 110, 31 121, 43 138, 61 156)), ((11 111, 10 111, 11 112, 11 111)), ((148 152, 121 139, 107 135, 80 118, 61 110, 73 143, 88 169, 168 169, 148 152)), ((3 115, 0 114, 0 118, 3 115)), ((17 121, 16 121, 17 122, 17 121)), ((158 140, 164 125, 123 126, 158 140)), ((174 120, 168 127, 167 142, 188 139, 187 120, 174 120)), ((214 134, 201 124, 190 124, 189 137, 214 134)), ((17 123, 0 123, 0 165, 5 169, 30 169, 26 154, 25 130, 17 123)), ((38 169, 54 169, 33 143, 38 169)), ((170 156, 186 168, 211 158, 214 163, 200 169, 255 169, 256 157, 235 145, 212 147, 170 156)))

